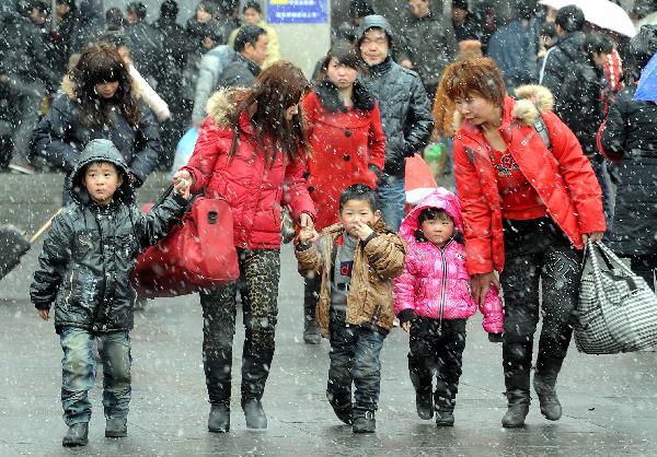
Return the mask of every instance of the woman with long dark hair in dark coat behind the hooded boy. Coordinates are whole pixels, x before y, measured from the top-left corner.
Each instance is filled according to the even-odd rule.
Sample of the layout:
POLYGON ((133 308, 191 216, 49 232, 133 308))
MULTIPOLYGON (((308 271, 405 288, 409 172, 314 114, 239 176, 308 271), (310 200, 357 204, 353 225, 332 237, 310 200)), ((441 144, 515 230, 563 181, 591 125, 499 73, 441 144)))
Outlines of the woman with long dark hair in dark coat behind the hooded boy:
POLYGON ((128 164, 135 186, 141 186, 158 163, 160 136, 118 52, 105 44, 87 48, 61 89, 34 129, 33 152, 69 174, 87 143, 111 140, 128 164))

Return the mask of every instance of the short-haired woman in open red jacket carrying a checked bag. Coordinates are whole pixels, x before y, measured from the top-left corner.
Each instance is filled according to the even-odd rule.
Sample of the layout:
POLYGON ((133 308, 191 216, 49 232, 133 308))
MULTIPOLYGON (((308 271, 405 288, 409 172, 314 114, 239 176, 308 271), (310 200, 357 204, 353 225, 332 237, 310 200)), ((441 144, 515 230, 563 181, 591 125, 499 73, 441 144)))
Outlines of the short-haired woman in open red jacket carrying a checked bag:
POLYGON ((502 423, 522 426, 529 411, 540 292, 543 326, 533 387, 543 415, 557 420, 555 384, 573 332, 581 249, 606 230, 600 186, 575 136, 551 112, 546 89, 518 87, 528 99, 505 96, 489 58, 452 63, 441 83, 462 117, 454 169, 473 296, 481 303, 491 283, 497 285, 495 271, 504 290, 508 411, 502 423))

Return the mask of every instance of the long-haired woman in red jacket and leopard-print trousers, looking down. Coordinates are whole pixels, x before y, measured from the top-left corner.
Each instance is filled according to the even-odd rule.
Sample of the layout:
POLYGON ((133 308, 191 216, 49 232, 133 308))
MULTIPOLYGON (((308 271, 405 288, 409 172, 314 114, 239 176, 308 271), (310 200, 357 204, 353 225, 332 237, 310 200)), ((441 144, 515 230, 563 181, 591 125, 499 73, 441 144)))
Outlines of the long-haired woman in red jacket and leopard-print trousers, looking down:
MULTIPOLYGON (((221 196, 233 215, 234 245, 246 280, 241 291, 246 336, 242 355, 242 409, 249 429, 266 429, 261 399, 274 358, 280 277, 280 206, 300 226, 314 208, 303 179, 308 142, 298 105, 308 87, 301 70, 279 61, 252 89, 219 91, 207 105, 194 154, 174 180, 221 196), (238 141, 234 141, 238 140, 238 141)), ((200 293, 203 360, 210 399, 208 429, 230 429, 235 283, 200 293)))

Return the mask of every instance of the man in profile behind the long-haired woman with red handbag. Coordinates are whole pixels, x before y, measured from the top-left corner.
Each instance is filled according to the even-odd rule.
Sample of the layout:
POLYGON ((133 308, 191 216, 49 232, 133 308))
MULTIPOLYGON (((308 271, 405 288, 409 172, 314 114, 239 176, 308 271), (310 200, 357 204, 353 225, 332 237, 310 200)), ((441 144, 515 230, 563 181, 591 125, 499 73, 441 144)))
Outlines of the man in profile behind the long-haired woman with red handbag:
POLYGON ((223 69, 218 87, 246 87, 255 82, 267 58, 267 32, 257 25, 245 25, 235 36, 233 61, 223 69))

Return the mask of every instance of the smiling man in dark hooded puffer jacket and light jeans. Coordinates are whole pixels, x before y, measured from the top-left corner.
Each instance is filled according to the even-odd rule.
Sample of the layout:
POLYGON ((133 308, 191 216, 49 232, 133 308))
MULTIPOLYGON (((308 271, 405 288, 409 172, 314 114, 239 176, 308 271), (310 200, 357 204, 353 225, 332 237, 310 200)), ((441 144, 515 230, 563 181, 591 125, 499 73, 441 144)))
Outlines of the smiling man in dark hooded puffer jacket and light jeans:
POLYGON ((385 165, 378 183, 382 218, 397 231, 404 216, 405 157, 422 152, 434 129, 431 105, 422 81, 390 57, 393 34, 388 21, 369 15, 358 33, 358 48, 369 67, 365 82, 379 102, 385 133, 385 165))

